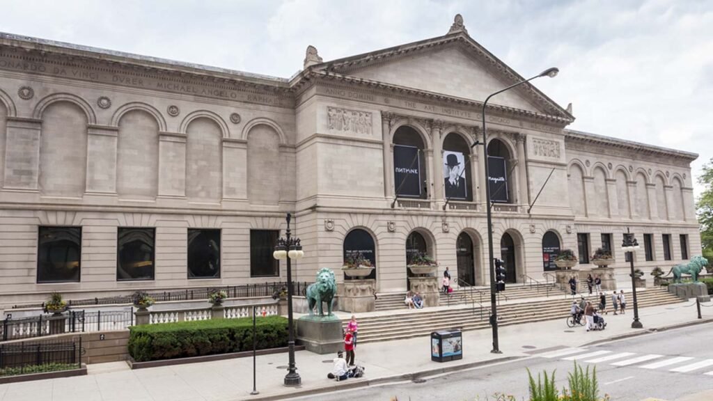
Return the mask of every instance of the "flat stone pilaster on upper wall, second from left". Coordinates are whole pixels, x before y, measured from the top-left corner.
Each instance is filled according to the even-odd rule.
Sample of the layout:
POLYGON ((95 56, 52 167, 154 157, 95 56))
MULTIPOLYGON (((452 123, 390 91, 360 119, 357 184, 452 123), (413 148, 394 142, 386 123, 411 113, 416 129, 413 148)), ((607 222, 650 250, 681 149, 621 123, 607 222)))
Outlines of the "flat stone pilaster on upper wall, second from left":
POLYGON ((88 127, 87 193, 116 195, 116 141, 118 133, 118 127, 88 127))

